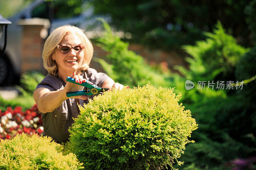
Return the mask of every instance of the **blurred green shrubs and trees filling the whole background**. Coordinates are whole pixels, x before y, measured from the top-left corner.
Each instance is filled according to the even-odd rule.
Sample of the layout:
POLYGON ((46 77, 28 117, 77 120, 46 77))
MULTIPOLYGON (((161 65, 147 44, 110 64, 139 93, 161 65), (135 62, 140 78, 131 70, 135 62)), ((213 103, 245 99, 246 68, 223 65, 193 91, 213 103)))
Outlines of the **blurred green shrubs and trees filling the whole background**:
MULTIPOLYGON (((3 17, 8 18, 19 7, 32 2, 14 1, 12 8, 0 7, 3 17)), ((0 4, 6 2, 0 0, 0 4)), ((216 89, 217 81, 236 82, 256 75, 256 0, 49 2, 52 8, 59 9, 56 15, 60 18, 78 15, 88 6, 93 7, 94 16, 111 18, 111 27, 100 19, 104 35, 92 41, 108 52, 104 59, 94 60, 115 81, 130 87, 145 85, 150 81, 155 86, 175 87, 176 93, 182 93, 181 102, 186 109, 191 110, 199 128, 191 137, 196 142, 188 144, 180 158, 184 164, 177 168, 256 168, 256 81, 244 84, 243 89, 216 89), (85 3, 86 6, 83 5, 85 3), (112 33, 111 28, 123 31, 125 36, 120 39, 112 33), (176 66, 179 73, 173 73, 160 65, 149 65, 140 55, 128 50, 129 43, 143 44, 166 52, 184 52, 186 55, 181 57, 188 67, 176 66), (195 87, 186 90, 186 80, 194 83, 213 81, 215 86, 213 89, 195 87), (239 159, 240 166, 235 159, 239 159)), ((38 16, 43 15, 38 9, 38 16)), ((38 78, 42 78, 39 73, 22 76, 18 88, 23 92, 21 96, 28 99, 26 103, 0 99, 0 105, 27 107, 28 101, 33 103, 31 94, 40 81, 38 78)))

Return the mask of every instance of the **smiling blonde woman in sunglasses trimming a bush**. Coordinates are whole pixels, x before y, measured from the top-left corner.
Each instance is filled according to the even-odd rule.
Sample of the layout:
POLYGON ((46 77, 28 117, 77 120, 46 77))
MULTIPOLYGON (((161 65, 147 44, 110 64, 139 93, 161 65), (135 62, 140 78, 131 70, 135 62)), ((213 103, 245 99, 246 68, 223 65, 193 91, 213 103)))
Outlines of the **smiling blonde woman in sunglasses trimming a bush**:
POLYGON ((67 142, 68 128, 79 114, 77 104, 84 105, 92 96, 67 97, 67 92, 81 91, 84 86, 66 81, 75 78, 82 84, 86 80, 99 87, 122 89, 104 73, 89 68, 93 55, 92 43, 83 31, 75 26, 56 28, 46 39, 43 49, 44 68, 47 76, 39 83, 33 97, 44 123, 43 136, 50 136, 57 143, 67 142))

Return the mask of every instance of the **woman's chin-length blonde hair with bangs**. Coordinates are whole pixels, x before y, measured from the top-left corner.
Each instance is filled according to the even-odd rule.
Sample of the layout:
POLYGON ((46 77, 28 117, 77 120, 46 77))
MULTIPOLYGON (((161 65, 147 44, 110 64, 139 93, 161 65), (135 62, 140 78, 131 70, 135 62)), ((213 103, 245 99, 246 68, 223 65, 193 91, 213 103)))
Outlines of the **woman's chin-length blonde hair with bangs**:
POLYGON ((85 45, 84 61, 80 67, 81 71, 87 70, 92 60, 92 43, 84 34, 84 30, 77 28, 76 26, 70 25, 60 26, 53 30, 53 32, 46 39, 42 55, 44 68, 48 71, 48 73, 51 73, 54 76, 58 74, 58 67, 56 62, 52 60, 52 53, 67 33, 75 33, 81 39, 82 43, 85 45))

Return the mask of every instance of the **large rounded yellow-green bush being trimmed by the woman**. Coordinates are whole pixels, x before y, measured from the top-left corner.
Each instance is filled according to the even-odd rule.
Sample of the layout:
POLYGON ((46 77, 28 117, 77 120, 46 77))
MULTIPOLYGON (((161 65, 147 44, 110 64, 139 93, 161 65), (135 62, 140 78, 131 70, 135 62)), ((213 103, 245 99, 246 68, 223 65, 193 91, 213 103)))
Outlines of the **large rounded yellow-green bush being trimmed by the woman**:
POLYGON ((99 95, 69 129, 85 169, 160 169, 177 161, 197 129, 173 89, 145 85, 99 95))

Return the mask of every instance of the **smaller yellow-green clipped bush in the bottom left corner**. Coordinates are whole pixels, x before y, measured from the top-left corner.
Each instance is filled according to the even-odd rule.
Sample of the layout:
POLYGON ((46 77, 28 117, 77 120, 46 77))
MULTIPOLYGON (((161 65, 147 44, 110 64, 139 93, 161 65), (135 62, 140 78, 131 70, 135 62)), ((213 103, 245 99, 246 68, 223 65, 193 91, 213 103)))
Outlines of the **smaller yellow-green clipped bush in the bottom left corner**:
POLYGON ((25 133, 0 142, 0 169, 82 169, 73 153, 62 154, 62 145, 51 137, 25 133))

